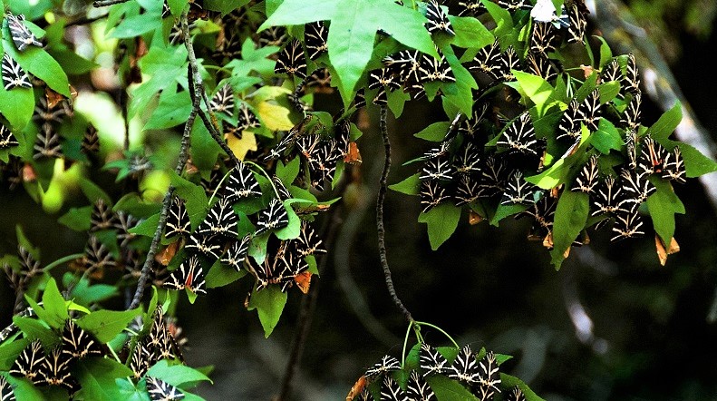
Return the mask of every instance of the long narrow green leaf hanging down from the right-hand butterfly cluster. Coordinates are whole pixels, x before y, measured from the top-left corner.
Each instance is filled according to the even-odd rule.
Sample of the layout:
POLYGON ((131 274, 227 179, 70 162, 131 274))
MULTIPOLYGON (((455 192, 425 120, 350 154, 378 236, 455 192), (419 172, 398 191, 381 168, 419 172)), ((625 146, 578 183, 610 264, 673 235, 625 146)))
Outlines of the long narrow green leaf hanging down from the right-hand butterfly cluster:
POLYGON ((550 251, 556 269, 560 269, 565 252, 585 228, 589 211, 586 193, 563 191, 560 195, 553 222, 553 249, 550 251))

